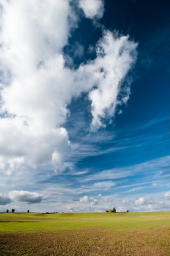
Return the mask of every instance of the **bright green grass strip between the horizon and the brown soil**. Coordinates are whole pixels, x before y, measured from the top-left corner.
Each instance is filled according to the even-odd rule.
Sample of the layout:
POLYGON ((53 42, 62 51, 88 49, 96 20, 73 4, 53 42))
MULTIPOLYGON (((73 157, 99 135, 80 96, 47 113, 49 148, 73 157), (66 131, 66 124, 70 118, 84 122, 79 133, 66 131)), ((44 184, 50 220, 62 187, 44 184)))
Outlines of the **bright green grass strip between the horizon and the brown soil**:
POLYGON ((85 227, 116 228, 121 231, 169 226, 170 212, 4 213, 0 214, 0 223, 0 232, 53 232, 85 227))

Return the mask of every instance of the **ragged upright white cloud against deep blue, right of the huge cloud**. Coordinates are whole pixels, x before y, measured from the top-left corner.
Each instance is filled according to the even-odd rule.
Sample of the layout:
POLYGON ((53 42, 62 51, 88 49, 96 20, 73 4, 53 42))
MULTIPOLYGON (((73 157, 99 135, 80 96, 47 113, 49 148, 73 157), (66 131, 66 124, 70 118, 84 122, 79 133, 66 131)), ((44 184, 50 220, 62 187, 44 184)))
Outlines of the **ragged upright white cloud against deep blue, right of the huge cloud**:
POLYGON ((92 126, 104 126, 102 118, 112 117, 117 104, 126 103, 129 99, 129 87, 124 88, 124 96, 117 100, 121 92, 121 82, 136 60, 137 44, 129 40, 128 36, 120 36, 105 31, 98 42, 97 58, 94 74, 97 76, 97 88, 89 93, 92 101, 92 126))

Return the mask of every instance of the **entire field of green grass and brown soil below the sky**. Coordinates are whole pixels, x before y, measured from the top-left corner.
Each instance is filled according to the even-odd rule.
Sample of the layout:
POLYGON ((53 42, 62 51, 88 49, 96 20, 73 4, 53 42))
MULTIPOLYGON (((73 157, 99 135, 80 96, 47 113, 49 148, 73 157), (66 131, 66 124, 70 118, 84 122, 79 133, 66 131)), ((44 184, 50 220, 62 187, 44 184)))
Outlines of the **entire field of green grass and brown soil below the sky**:
POLYGON ((0 255, 170 255, 170 212, 1 213, 0 255))

